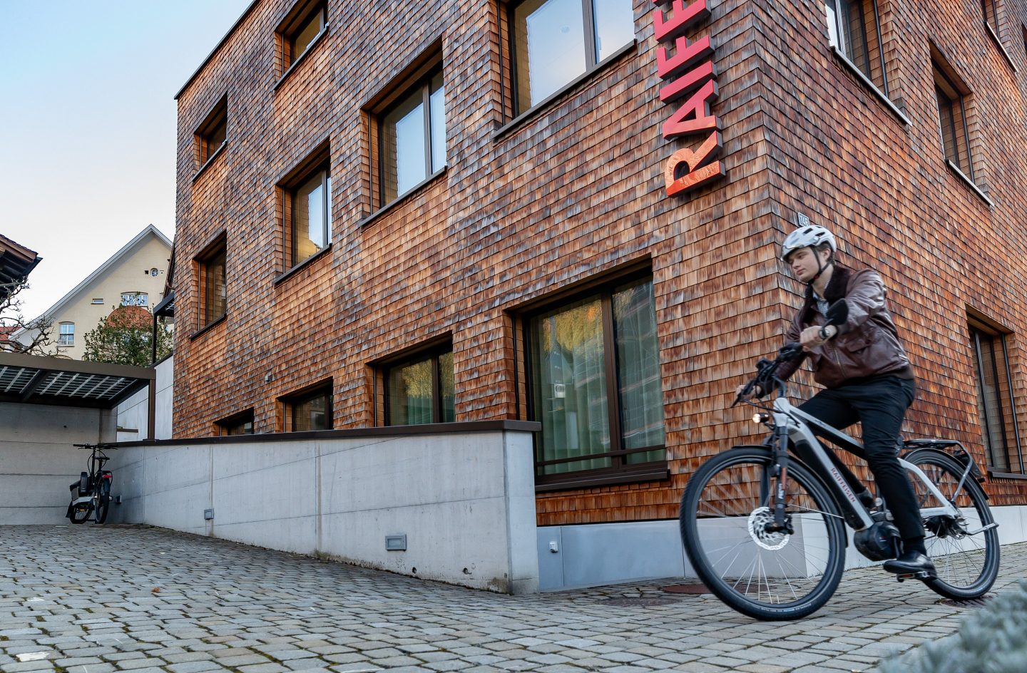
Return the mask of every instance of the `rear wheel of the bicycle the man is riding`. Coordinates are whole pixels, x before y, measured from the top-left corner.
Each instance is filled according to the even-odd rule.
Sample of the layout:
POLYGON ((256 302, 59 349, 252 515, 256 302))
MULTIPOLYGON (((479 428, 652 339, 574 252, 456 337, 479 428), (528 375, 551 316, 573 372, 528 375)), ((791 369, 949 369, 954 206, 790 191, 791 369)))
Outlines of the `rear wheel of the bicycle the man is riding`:
MULTIPOLYGON (((960 526, 963 532, 994 522, 984 488, 977 479, 967 476, 962 488, 956 492, 965 467, 951 456, 938 450, 921 449, 910 453, 906 461, 923 471, 942 494, 959 508, 966 522, 960 526)), ((914 475, 910 475, 910 482, 921 508, 940 505, 937 498, 914 475)), ((924 584, 952 600, 980 598, 991 589, 998 577, 998 531, 992 527, 971 536, 958 530, 952 533, 944 528, 939 529, 936 522, 938 519, 940 517, 924 519, 924 545, 938 572, 937 579, 925 580, 924 584)))

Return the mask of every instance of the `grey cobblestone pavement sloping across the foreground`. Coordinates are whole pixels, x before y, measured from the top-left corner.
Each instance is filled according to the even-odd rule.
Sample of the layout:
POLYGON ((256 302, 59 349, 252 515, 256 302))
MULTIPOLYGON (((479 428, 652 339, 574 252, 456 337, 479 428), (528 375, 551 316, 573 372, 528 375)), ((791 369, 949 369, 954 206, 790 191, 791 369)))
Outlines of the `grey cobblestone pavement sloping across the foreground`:
MULTIPOLYGON (((0 671, 870 671, 966 607, 847 572, 798 623, 672 581, 504 596, 138 526, 0 526, 0 671)), ((1000 592, 1027 576, 1003 548, 1000 592)))

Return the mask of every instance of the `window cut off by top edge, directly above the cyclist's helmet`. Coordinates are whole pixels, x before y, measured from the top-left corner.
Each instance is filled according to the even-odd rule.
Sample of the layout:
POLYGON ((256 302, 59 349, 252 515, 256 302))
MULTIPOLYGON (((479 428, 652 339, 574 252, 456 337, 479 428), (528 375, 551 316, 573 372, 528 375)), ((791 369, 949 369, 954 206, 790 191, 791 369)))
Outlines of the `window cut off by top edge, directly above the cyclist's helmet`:
POLYGON ((887 95, 877 0, 827 0, 826 6, 831 46, 887 95))

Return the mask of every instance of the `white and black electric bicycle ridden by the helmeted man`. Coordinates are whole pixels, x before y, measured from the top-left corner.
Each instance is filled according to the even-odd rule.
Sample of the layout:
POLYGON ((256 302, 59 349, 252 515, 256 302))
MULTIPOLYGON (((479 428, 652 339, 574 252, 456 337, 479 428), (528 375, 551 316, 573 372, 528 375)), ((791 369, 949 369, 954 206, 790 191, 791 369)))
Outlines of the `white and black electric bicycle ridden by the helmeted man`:
MULTIPOLYGON (((847 318, 832 306, 830 324, 847 318)), ((845 567, 845 524, 857 550, 873 561, 896 558, 901 539, 880 499, 861 498, 865 486, 814 432, 857 456, 861 444, 793 406, 773 373, 801 357, 789 344, 735 399, 759 409, 753 421, 770 434, 762 444, 734 446, 707 461, 688 480, 681 501, 681 538, 692 567, 718 598, 760 620, 792 620, 820 609, 845 567), (752 401, 759 386, 776 391, 772 405, 752 401)), ((732 404, 733 406, 733 404, 732 404)), ((936 572, 899 575, 921 580, 946 598, 979 598, 998 573, 997 523, 981 486, 983 473, 961 443, 913 439, 900 464, 909 471, 936 572)))

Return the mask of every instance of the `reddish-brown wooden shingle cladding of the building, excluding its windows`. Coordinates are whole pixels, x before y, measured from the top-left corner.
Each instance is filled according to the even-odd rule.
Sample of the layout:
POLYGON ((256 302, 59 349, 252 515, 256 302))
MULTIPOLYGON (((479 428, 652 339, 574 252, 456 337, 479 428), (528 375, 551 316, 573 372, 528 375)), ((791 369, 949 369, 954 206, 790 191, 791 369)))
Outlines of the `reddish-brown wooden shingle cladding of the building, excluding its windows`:
MULTIPOLYGON (((910 428, 957 436, 980 452, 964 315, 969 305, 1027 329, 1017 293, 1027 275, 1027 68, 1010 74, 974 30, 979 15, 969 6, 952 4, 934 21, 934 5, 879 4, 892 98, 905 104, 908 129, 834 62, 819 3, 713 3, 713 23, 693 37, 709 32, 717 47, 714 112, 728 179, 668 199, 663 162, 701 138, 659 135, 674 108, 658 101, 649 2, 636 2, 632 52, 494 138, 507 121, 500 89, 509 76, 500 75, 493 2, 436 0, 383 14, 368 3, 331 0, 329 34, 272 90, 273 30, 291 4, 265 0, 179 100, 178 266, 189 268, 227 230, 229 310, 224 323, 190 339, 195 286, 189 274, 177 276, 176 434, 208 434, 214 421, 251 406, 257 432, 278 429, 277 398, 328 377, 335 427, 370 426, 367 363, 447 332, 457 420, 516 418, 524 375, 515 377, 509 312, 649 259, 672 478, 546 493, 538 521, 674 517, 701 457, 757 439, 747 434, 754 432, 749 412, 727 408, 729 391, 779 345, 797 304, 773 243, 798 209, 838 230, 846 261, 873 264, 889 282, 923 375, 910 428), (941 161, 928 34, 974 87, 972 143, 994 210, 941 161), (362 106, 440 36, 449 167, 359 227, 372 209, 362 106), (192 133, 226 91, 229 146, 193 181, 192 133), (286 270, 274 186, 326 138, 332 249, 274 284, 286 270), (1016 237, 1012 250, 985 249, 995 230, 1016 237)), ((1022 63, 1020 42, 1007 48, 1022 63)), ((1018 347, 1015 386, 1027 438, 1018 347)), ((991 489, 1022 502, 1018 486, 994 482, 991 489)))

